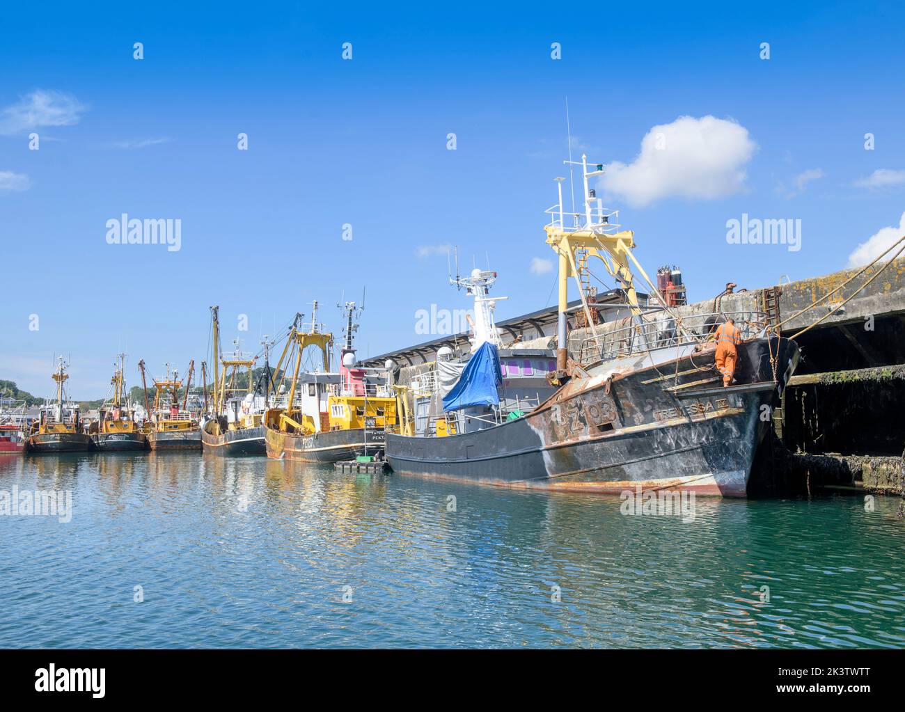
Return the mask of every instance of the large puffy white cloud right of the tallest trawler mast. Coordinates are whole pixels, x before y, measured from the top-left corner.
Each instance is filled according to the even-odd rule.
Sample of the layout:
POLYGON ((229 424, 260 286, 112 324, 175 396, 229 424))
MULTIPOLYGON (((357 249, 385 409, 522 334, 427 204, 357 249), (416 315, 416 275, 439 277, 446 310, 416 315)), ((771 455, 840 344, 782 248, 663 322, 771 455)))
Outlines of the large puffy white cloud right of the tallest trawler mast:
POLYGON ((712 200, 745 190, 757 144, 735 121, 683 116, 653 127, 631 164, 612 163, 600 185, 635 206, 667 197, 712 200))

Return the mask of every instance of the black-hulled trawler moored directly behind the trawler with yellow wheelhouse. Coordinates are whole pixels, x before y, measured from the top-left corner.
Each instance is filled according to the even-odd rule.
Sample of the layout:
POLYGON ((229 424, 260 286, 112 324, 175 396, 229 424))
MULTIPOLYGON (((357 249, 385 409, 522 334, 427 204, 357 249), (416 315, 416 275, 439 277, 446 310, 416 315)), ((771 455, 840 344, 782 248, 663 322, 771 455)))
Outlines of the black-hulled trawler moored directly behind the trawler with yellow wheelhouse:
POLYGON ((205 452, 217 455, 263 455, 264 411, 270 405, 270 343, 264 337, 263 393, 255 390, 254 359, 243 356, 239 341, 233 341, 233 356, 224 358, 220 352, 219 307, 211 307, 214 347, 214 411, 201 429, 205 452), (222 370, 221 370, 222 368, 222 370), (236 378, 243 375, 246 384, 237 387, 236 378))

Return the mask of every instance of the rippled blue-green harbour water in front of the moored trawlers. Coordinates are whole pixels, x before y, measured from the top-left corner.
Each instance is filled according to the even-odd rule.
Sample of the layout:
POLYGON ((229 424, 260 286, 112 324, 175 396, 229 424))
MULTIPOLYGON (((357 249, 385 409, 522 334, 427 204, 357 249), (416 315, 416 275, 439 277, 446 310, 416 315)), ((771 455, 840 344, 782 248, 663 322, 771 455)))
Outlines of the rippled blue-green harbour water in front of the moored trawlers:
POLYGON ((899 498, 698 498, 684 521, 153 452, 7 457, 14 488, 72 511, 0 516, 2 648, 905 647, 899 498))

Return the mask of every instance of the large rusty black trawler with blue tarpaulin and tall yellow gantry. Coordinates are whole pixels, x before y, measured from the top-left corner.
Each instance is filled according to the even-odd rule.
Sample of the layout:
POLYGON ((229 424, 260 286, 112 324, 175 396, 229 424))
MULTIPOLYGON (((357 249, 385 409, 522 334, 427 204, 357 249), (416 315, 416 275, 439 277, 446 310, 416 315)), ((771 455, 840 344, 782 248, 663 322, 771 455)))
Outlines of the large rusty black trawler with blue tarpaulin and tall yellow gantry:
POLYGON ((559 201, 548 209, 545 227, 558 260, 557 362, 550 374, 557 391, 519 413, 500 407, 496 328, 483 309, 491 298, 486 277, 475 271, 472 353, 443 398, 443 414, 435 416, 445 424, 417 434, 405 414, 402 432, 386 435, 387 461, 401 474, 508 487, 745 497, 768 413, 795 370, 798 347, 768 328, 760 312, 681 319, 662 298, 659 308, 642 308, 630 267, 660 295, 633 256, 633 233, 614 222, 617 212, 605 211, 588 186, 604 166, 588 170, 584 156, 574 165, 584 175, 584 215, 574 213, 567 226, 565 179, 557 178, 559 201), (597 323, 583 289, 589 258, 602 261, 619 283, 628 318, 597 323), (585 316, 585 327, 571 334, 569 278, 576 280, 585 316), (712 330, 729 317, 743 339, 735 380, 724 387, 712 330), (570 342, 576 358, 568 356, 570 342))

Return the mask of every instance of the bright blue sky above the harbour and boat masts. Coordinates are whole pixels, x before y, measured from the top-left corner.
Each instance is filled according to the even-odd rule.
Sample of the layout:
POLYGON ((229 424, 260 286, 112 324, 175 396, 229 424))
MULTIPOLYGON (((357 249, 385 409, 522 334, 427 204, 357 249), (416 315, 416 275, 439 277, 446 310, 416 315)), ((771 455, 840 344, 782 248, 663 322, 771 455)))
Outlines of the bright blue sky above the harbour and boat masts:
POLYGON ((688 176, 673 160, 653 197, 599 186, 638 259, 681 265, 691 299, 842 269, 905 213, 903 20, 855 3, 5 9, 0 378, 50 393, 63 353, 71 393, 101 397, 120 348, 131 384, 139 358, 156 375, 205 358, 211 304, 224 342, 252 347, 312 299, 338 333, 336 303, 365 286, 359 354, 416 343, 415 310, 469 306, 443 249, 419 247, 489 260, 500 318, 542 308, 555 276, 530 266, 552 256, 566 97, 576 156, 598 162, 633 165, 681 117, 740 128, 740 153, 718 142, 688 176), (108 244, 122 213, 180 219, 181 249, 108 244), (801 250, 729 244, 743 213, 800 219, 801 250))

